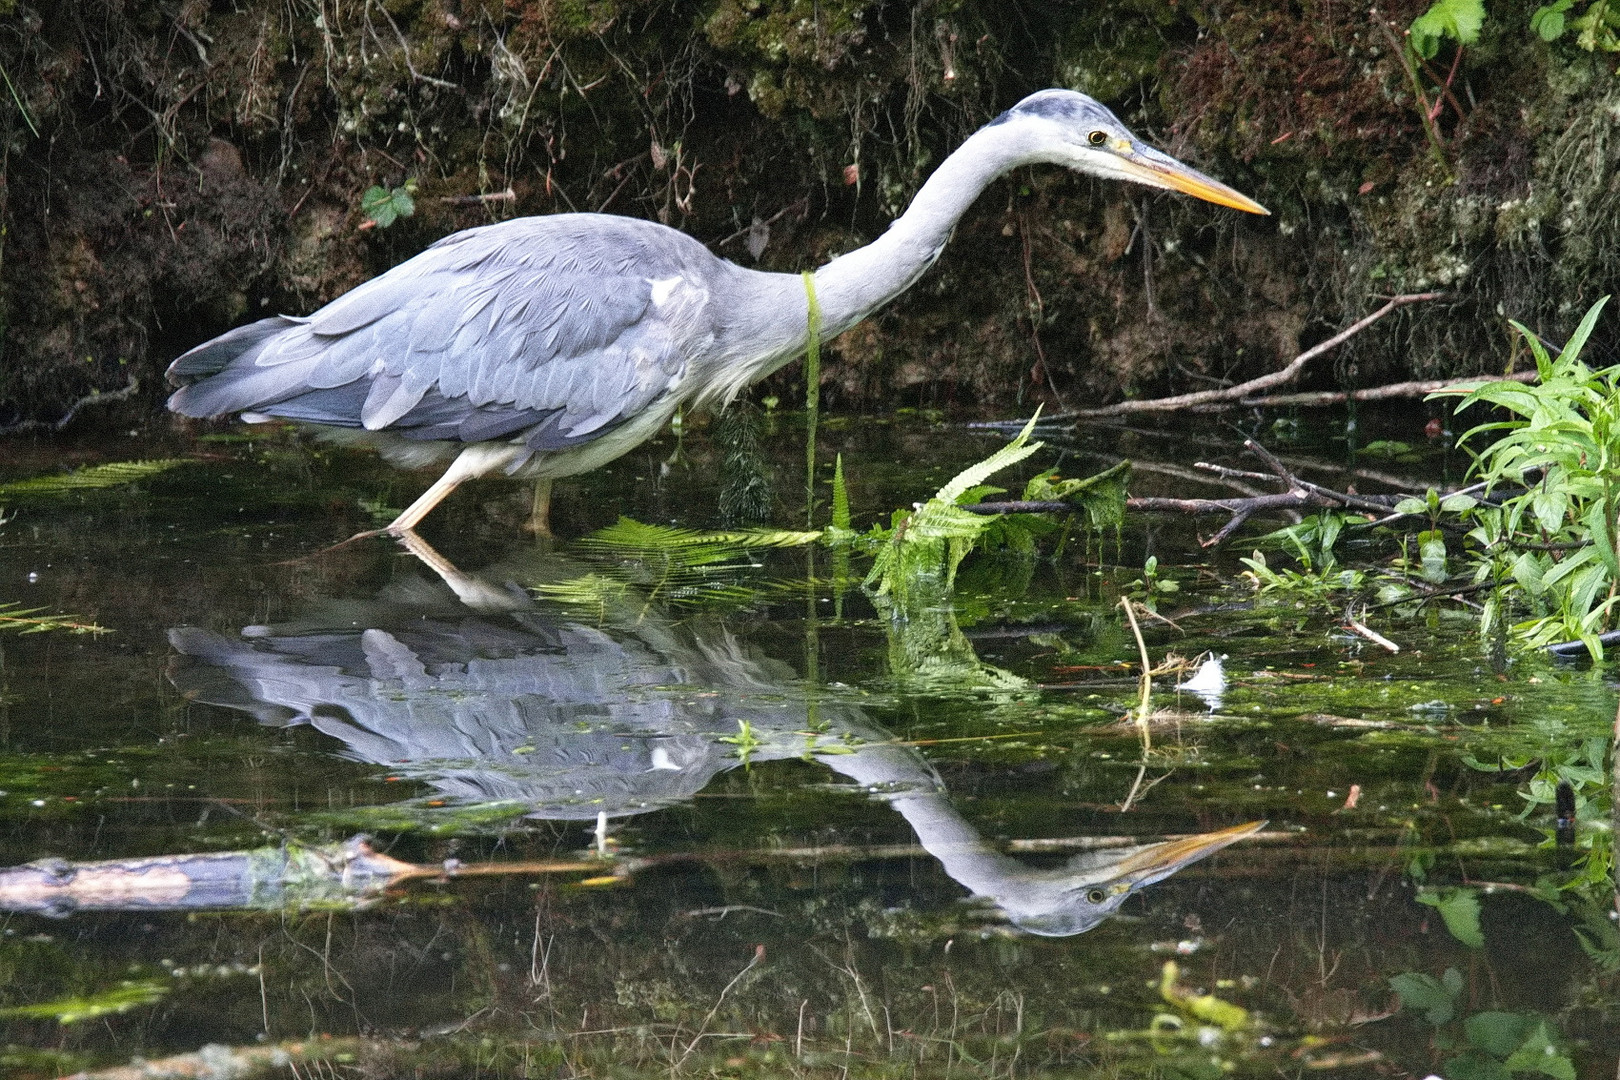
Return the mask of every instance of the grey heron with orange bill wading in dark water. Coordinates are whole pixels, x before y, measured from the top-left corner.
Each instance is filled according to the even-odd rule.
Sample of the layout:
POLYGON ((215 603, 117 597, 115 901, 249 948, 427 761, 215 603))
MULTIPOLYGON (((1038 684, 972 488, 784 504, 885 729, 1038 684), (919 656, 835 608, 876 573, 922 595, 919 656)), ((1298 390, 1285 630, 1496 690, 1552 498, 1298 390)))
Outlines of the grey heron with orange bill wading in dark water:
MULTIPOLYGON (((1000 175, 1056 164, 1267 214, 1147 146, 1097 100, 1040 91, 975 131, 873 243, 815 272, 831 338, 910 288, 1000 175)), ((653 437, 680 406, 723 405, 805 351, 797 274, 750 270, 654 222, 520 217, 454 233, 306 317, 274 316, 168 366, 185 416, 284 418, 449 468, 386 529, 416 526, 463 481, 549 483, 653 437)))

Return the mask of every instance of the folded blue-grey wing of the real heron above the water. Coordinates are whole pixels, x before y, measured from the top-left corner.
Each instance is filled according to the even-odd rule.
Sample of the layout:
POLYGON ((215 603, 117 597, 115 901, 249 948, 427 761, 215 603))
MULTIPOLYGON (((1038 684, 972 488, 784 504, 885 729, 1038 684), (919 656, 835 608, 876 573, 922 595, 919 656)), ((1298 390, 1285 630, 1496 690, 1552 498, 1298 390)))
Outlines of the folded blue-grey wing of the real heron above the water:
POLYGON ((526 431, 535 450, 586 442, 677 385, 713 340, 718 264, 692 238, 633 219, 468 230, 306 321, 279 332, 266 321, 181 356, 177 381, 217 374, 181 387, 170 408, 463 442, 526 431))

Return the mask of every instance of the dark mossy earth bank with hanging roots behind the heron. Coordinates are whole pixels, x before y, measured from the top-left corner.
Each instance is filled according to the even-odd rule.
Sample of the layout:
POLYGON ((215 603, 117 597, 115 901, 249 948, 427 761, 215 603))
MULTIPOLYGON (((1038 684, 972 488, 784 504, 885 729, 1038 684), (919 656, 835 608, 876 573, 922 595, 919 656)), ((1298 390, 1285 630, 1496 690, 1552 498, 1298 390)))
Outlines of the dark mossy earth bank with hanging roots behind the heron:
POLYGON ((1533 32, 1534 3, 1494 3, 1439 55, 1447 86, 1419 73, 1426 118, 1398 47, 1426 6, 0 0, 0 426, 133 379, 156 410, 183 348, 518 214, 653 217, 813 266, 1042 86, 1103 99, 1273 217, 1021 170, 831 347, 834 406, 1196 389, 1424 288, 1450 300, 1317 377, 1498 369, 1505 316, 1557 340, 1620 283, 1620 83, 1612 53, 1533 32), (415 214, 377 227, 373 186, 415 214))

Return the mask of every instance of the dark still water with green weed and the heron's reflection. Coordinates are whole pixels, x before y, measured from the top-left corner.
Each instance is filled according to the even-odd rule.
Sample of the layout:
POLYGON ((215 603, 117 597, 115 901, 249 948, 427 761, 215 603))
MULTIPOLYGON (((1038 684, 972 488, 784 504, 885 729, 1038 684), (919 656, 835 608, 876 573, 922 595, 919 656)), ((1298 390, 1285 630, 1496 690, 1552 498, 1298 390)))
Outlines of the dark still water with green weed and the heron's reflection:
MULTIPOLYGON (((857 526, 996 445, 922 418, 823 432, 857 526)), ((781 526, 804 520, 797 439, 763 436, 781 526)), ((0 483, 185 461, 0 495, 0 604, 109 630, 0 631, 0 866, 65 860, 44 900, 0 876, 13 1075, 311 1036, 300 1075, 1615 1074, 1612 678, 1495 672, 1464 609, 1375 615, 1392 654, 1298 596, 1256 602, 1252 544, 1197 547, 1218 521, 1139 515, 970 560, 954 614, 896 623, 834 589, 826 551, 664 581, 533 541, 501 483, 423 528, 458 597, 390 541, 319 554, 421 478, 285 434, 128 444, 0 450, 0 483), (1153 661, 1225 656, 1228 685, 1158 678, 1144 751, 1118 601, 1150 554, 1179 586, 1153 661), (635 588, 533 599, 588 573, 635 588), (1259 821, 1144 870, 1173 870, 1147 845, 1259 821), (423 873, 366 878, 340 850, 360 834, 423 873), (68 865, 143 858, 102 892, 68 865)), ((1176 426, 1029 465, 1236 450, 1176 426)), ((1291 452, 1364 491, 1345 468, 1460 471, 1291 452)), ((698 431, 559 484, 552 521, 713 528, 721 483, 698 431)), ((1223 494, 1152 468, 1132 491, 1223 494)))

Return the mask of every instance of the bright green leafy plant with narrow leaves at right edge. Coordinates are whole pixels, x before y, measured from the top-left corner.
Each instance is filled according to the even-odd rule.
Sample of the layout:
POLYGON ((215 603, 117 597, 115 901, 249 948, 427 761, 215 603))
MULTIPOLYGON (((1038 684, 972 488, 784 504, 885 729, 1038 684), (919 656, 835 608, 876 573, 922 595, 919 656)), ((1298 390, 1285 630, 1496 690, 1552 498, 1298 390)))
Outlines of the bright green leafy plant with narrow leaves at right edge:
POLYGON ((1460 507, 1484 551, 1476 581, 1498 585, 1487 623, 1524 601, 1536 617, 1515 627, 1521 641, 1580 640, 1594 657, 1620 602, 1620 366, 1592 371, 1581 350, 1607 300, 1592 304, 1557 356, 1513 324, 1536 358, 1537 385, 1473 381, 1434 395, 1460 397, 1458 411, 1495 405, 1513 415, 1460 440, 1498 436, 1481 450, 1474 474, 1487 495, 1510 492, 1460 507))

